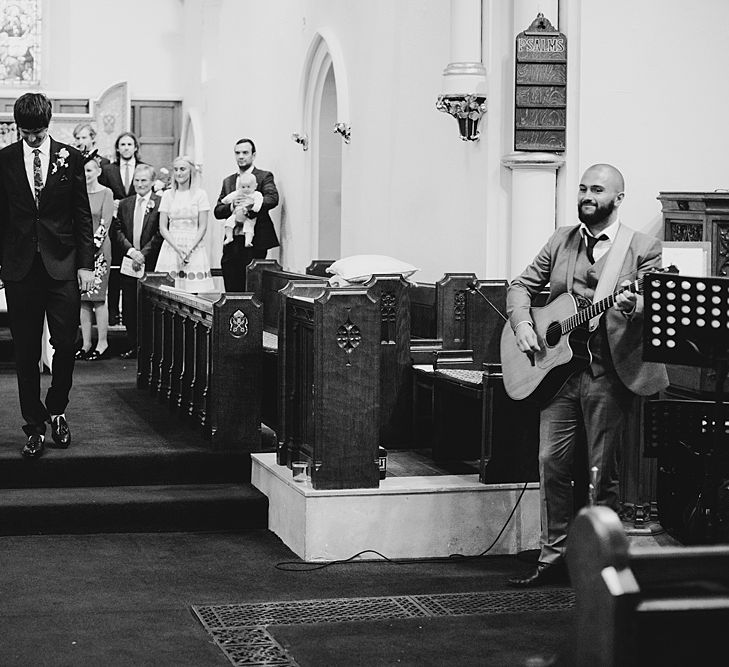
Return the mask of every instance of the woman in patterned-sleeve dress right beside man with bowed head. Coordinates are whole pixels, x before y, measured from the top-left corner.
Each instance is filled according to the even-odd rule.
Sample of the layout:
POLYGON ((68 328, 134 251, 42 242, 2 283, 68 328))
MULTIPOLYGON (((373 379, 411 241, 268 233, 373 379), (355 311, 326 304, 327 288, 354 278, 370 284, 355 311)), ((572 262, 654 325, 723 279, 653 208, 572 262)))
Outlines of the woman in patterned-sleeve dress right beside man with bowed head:
POLYGON ((101 167, 97 158, 88 156, 84 163, 86 174, 86 192, 91 205, 91 217, 94 221, 94 287, 81 294, 81 349, 76 352, 76 359, 97 361, 109 357, 109 309, 106 305, 106 290, 109 285, 109 266, 111 264, 111 241, 109 226, 114 217, 114 196, 109 188, 99 183, 101 167), (94 316, 96 316, 96 347, 92 349, 91 332, 94 316))

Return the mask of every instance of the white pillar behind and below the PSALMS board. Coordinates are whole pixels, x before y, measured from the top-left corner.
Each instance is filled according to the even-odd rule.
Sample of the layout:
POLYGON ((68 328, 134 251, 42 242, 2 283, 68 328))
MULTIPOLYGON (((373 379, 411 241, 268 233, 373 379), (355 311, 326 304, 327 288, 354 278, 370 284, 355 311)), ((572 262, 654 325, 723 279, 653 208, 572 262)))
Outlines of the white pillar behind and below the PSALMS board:
MULTIPOLYGON (((514 38, 540 12, 555 28, 558 26, 559 0, 514 0, 513 9, 514 38)), ((513 110, 513 83, 511 90, 513 110)), ((564 164, 564 158, 558 153, 516 151, 504 155, 501 164, 512 171, 511 249, 507 267, 511 279, 534 259, 555 229, 557 170, 564 164)))

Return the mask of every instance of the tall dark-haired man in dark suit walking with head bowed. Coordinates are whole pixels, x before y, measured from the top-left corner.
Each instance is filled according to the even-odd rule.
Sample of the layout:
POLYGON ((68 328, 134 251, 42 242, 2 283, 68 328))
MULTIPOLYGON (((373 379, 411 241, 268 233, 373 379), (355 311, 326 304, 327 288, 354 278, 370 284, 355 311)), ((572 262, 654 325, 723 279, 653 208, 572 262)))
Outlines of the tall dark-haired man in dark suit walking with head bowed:
POLYGON ((94 284, 94 240, 83 158, 48 135, 51 102, 26 93, 13 108, 21 140, 0 151, 0 278, 15 347, 20 409, 28 441, 43 453, 46 423, 68 447, 65 410, 73 381, 81 291, 94 284), (51 386, 40 399, 41 337, 47 318, 54 347, 51 386))

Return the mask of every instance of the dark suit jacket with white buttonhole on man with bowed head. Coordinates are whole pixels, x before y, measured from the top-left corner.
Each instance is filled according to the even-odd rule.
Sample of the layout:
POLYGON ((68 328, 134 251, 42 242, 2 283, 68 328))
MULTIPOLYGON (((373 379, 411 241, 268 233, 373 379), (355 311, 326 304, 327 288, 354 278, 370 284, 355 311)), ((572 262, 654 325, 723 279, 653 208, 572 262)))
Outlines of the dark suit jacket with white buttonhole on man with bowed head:
POLYGON ((94 268, 94 232, 83 156, 51 139, 50 160, 36 206, 23 160, 22 140, 0 151, 0 277, 21 280, 40 249, 55 280, 75 280, 94 268))

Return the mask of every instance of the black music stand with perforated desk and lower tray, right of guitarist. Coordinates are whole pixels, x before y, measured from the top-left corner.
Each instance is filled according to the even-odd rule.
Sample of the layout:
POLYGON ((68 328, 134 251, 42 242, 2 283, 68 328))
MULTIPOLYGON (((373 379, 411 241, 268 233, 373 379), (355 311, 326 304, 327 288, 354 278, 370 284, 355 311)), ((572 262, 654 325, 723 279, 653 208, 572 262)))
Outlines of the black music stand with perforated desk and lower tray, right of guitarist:
MULTIPOLYGON (((650 273, 644 281, 643 358, 716 371, 714 402, 652 401, 646 405, 646 448, 684 446, 702 458, 703 480, 689 517, 691 542, 722 534, 717 514, 721 463, 729 453, 729 278, 650 273)), ((724 527, 726 529, 726 527, 724 527)))

